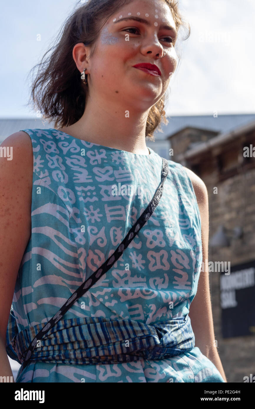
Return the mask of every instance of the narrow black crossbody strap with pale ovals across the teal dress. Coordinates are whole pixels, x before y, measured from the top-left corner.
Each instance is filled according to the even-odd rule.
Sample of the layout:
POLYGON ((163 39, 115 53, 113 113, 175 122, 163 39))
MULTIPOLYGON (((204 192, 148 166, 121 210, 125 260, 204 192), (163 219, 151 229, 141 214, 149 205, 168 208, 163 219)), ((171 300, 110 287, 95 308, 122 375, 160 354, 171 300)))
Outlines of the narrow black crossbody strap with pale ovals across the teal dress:
POLYGON ((129 230, 128 234, 124 238, 124 240, 120 243, 120 245, 117 247, 115 252, 86 280, 84 281, 79 288, 77 288, 76 291, 71 295, 70 298, 64 303, 64 305, 60 308, 60 310, 52 317, 47 324, 38 332, 36 337, 34 337, 33 341, 25 351, 25 359, 23 361, 23 369, 27 365, 27 362, 29 361, 34 348, 36 347, 36 343, 39 339, 42 339, 42 337, 49 331, 65 314, 65 312, 77 301, 83 294, 86 293, 92 287, 101 277, 103 274, 105 274, 117 261, 120 256, 123 254, 124 250, 126 247, 129 246, 131 241, 134 239, 134 237, 138 234, 138 231, 144 226, 144 224, 147 222, 147 220, 151 217, 153 211, 156 209, 158 206, 158 203, 160 202, 160 198, 163 193, 163 184, 167 178, 168 175, 168 162, 165 158, 162 158, 163 164, 162 164, 162 172, 161 172, 161 182, 158 186, 158 189, 156 190, 153 198, 151 199, 151 202, 147 206, 147 208, 144 210, 144 212, 141 214, 141 216, 138 218, 138 220, 135 222, 133 227, 129 230))

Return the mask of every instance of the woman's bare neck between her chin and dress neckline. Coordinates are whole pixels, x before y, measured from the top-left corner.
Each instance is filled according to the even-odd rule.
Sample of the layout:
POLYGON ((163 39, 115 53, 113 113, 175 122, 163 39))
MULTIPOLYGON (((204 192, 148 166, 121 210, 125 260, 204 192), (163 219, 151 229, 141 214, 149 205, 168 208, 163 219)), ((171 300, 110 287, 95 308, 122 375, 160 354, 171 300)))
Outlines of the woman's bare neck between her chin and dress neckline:
POLYGON ((88 98, 82 117, 64 132, 95 144, 109 146, 140 155, 149 155, 145 129, 150 108, 144 112, 127 103, 103 103, 88 98), (129 112, 127 112, 129 111, 129 112))

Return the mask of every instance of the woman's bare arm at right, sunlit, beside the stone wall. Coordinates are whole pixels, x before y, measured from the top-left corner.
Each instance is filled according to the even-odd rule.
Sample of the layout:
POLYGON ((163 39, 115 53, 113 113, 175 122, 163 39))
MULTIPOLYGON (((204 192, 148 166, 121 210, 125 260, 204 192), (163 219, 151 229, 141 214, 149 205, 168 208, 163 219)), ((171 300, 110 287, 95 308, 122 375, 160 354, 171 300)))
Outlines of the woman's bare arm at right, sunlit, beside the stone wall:
POLYGON ((221 373, 222 378, 227 382, 226 375, 223 371, 223 366, 214 344, 215 335, 212 318, 212 304, 209 287, 209 273, 208 273, 208 240, 209 240, 209 206, 208 206, 208 191, 204 182, 190 169, 185 168, 199 205, 201 216, 201 238, 202 238, 202 252, 203 263, 205 271, 200 272, 199 283, 196 295, 190 304, 190 320, 192 329, 195 335, 195 346, 197 346, 203 355, 208 357, 210 361, 217 367, 221 373), (205 262, 205 260, 207 260, 205 262))

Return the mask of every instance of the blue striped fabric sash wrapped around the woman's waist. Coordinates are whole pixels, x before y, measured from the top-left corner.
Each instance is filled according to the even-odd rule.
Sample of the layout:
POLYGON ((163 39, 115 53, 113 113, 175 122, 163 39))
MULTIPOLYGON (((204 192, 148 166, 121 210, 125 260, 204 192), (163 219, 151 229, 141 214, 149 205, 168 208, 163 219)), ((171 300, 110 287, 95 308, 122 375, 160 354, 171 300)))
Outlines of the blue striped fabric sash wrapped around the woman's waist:
MULTIPOLYGON (((26 328, 12 339, 20 363, 43 326, 26 328)), ((188 315, 150 325, 132 319, 61 319, 37 341, 31 360, 75 365, 158 360, 191 351, 194 344, 188 315)))

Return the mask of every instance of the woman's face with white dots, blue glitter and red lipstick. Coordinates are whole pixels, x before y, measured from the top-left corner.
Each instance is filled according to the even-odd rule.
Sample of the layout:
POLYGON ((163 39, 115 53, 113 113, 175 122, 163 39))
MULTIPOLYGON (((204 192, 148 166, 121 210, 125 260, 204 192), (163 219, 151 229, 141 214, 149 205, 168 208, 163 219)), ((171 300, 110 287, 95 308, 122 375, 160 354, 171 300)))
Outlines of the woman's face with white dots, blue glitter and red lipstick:
POLYGON ((150 108, 165 93, 176 69, 176 39, 172 12, 164 1, 134 0, 120 8, 106 21, 95 52, 88 59, 90 94, 92 90, 101 96, 102 92, 107 94, 107 99, 124 99, 127 109, 128 103, 150 108), (133 20, 132 16, 145 21, 133 20), (161 75, 133 67, 139 63, 157 65, 161 75))

